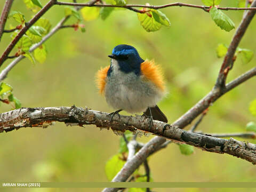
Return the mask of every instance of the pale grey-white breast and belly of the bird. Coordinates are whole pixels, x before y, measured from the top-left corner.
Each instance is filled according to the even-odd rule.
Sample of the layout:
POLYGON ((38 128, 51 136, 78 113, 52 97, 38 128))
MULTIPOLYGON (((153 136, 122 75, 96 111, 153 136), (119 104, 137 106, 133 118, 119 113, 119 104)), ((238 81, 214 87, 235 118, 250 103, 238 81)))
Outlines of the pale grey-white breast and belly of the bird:
POLYGON ((140 113, 148 107, 154 107, 163 97, 163 93, 153 83, 142 81, 141 76, 123 73, 116 60, 111 60, 112 73, 107 77, 105 97, 114 109, 123 109, 129 113, 140 113))

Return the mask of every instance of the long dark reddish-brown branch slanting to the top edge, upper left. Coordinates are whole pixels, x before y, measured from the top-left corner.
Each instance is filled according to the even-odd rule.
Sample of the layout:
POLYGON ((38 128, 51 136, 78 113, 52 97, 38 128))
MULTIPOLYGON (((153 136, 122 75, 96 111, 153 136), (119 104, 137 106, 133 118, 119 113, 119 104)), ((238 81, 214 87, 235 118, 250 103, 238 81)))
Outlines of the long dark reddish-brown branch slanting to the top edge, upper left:
POLYGON ((25 26, 19 31, 17 36, 14 37, 12 42, 7 46, 3 55, 0 58, 0 67, 3 65, 3 62, 7 59, 9 53, 12 51, 15 44, 18 43, 19 39, 26 33, 26 31, 34 25, 34 23, 42 17, 42 15, 48 11, 54 4, 56 0, 50 0, 29 22, 25 24, 25 26))

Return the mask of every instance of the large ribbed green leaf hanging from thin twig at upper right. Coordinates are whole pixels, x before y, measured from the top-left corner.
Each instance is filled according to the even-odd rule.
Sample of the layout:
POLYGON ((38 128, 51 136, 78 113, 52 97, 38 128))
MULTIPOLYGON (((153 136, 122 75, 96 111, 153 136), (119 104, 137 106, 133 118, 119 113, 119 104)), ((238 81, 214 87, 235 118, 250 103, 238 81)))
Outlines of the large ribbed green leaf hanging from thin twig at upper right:
POLYGON ((212 20, 221 29, 230 31, 235 28, 234 22, 222 11, 218 10, 217 7, 212 7, 210 10, 212 20))

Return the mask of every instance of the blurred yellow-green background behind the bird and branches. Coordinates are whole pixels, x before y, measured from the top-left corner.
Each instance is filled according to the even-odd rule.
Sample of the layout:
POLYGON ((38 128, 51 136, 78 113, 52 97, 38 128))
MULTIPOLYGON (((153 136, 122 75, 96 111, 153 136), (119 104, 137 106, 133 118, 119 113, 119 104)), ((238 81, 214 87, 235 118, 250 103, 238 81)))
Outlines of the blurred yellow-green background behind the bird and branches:
MULTIPOLYGON (((45 5, 46 0, 41 0, 45 5)), ((83 1, 78 1, 83 2, 83 1)), ((161 5, 174 1, 129 1, 131 4, 161 5)), ((202 5, 199 0, 180 1, 202 5)), ((221 6, 237 6, 237 1, 222 1, 221 6)), ((2 10, 4 1, 1 1, 2 10)), ((12 10, 30 19, 33 12, 23 1, 14 1, 12 10)), ((235 29, 227 33, 217 27, 210 15, 190 7, 170 7, 161 10, 170 19, 171 27, 147 33, 129 10, 111 13, 105 21, 100 18, 84 22, 86 32, 72 28, 61 29, 45 44, 47 59, 43 64, 32 65, 23 59, 9 73, 4 82, 13 86, 15 97, 22 107, 72 106, 89 107, 112 112, 105 99, 98 94, 94 75, 109 65, 107 57, 114 46, 130 44, 137 48, 143 59, 155 59, 163 66, 169 94, 159 107, 175 121, 199 99, 208 93, 217 78, 222 59, 215 49, 219 43, 229 44, 235 29)), ((226 11, 239 25, 243 11, 226 11)), ((55 5, 44 18, 54 26, 64 16, 64 7, 55 5)), ((76 22, 71 18, 67 24, 76 22)), ((17 25, 8 20, 6 28, 17 25)), ((251 22, 239 47, 256 52, 256 19, 251 22)), ((2 53, 10 43, 10 34, 1 41, 2 53)), ((15 50, 12 52, 15 53, 15 50)), ((12 54, 11 54, 12 55, 12 54)), ((7 60, 2 69, 11 60, 7 60)), ((237 59, 228 81, 255 67, 256 58, 244 65, 237 59)), ((0 69, 1 70, 1 69, 0 69)), ((206 133, 245 132, 245 125, 255 121, 249 110, 255 98, 255 78, 221 97, 205 116, 198 130, 206 133)), ((0 106, 1 112, 11 110, 10 105, 0 106)), ((121 113, 125 114, 125 113, 121 113)), ((194 122, 193 122, 194 123, 194 122)), ((186 129, 189 129, 190 125, 186 129)), ((153 136, 138 140, 147 142, 153 136)), ((243 139, 242 139, 243 140, 243 139)), ((254 140, 249 140, 255 143, 254 140)), ((100 131, 95 126, 66 126, 56 123, 47 129, 22 128, 0 134, 0 180, 2 181, 107 181, 105 163, 115 155, 119 136, 111 131, 100 131)), ((177 145, 171 144, 149 159, 154 181, 255 181, 256 167, 230 155, 207 153, 195 149, 190 156, 182 155, 177 145)), ((7 190, 7 189, 4 189, 7 190)), ((30 189, 31 191, 73 191, 74 189, 30 189)), ((76 189, 99 191, 100 189, 76 189)), ((153 189, 170 191, 170 189, 153 189)), ((241 191, 242 189, 171 189, 172 191, 241 191)), ((253 189, 246 189, 254 191, 253 189)), ((28 189, 17 189, 28 191, 28 189)))

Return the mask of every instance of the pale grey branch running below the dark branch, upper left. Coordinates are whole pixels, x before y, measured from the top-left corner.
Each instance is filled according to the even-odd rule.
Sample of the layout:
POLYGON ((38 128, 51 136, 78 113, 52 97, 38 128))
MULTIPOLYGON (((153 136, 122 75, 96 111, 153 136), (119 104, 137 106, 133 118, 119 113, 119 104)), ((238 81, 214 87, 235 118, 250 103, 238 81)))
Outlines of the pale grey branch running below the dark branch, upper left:
MULTIPOLYGON (((68 20, 69 16, 64 17, 60 20, 60 22, 58 22, 58 24, 52 28, 52 30, 45 35, 41 42, 33 45, 30 47, 29 52, 34 51, 37 47, 39 47, 40 45, 42 45, 47 39, 49 39, 53 34, 55 34, 63 25, 63 23, 65 23, 68 20)), ((4 68, 1 73, 0 73, 0 81, 3 81, 3 79, 6 78, 7 74, 9 73, 9 71, 15 66, 17 65, 18 62, 20 62, 23 58, 25 58, 25 56, 20 55, 17 59, 13 60, 6 68, 4 68)))

